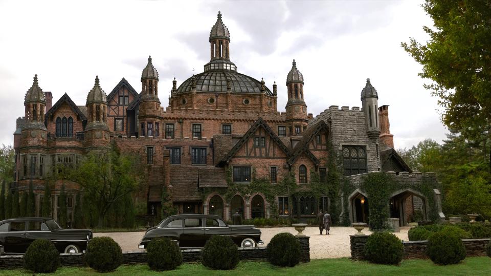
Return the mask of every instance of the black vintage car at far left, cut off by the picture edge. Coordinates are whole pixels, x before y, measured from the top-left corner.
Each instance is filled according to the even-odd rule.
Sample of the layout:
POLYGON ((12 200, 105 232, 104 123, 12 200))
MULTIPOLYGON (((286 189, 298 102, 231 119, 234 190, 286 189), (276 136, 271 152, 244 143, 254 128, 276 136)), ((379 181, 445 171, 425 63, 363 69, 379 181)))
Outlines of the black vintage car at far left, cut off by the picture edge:
POLYGON ((50 218, 17 218, 0 221, 0 253, 25 253, 31 242, 46 239, 60 253, 78 253, 92 239, 88 229, 61 229, 50 218))

